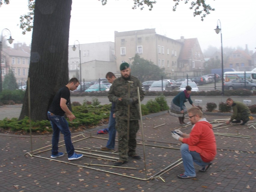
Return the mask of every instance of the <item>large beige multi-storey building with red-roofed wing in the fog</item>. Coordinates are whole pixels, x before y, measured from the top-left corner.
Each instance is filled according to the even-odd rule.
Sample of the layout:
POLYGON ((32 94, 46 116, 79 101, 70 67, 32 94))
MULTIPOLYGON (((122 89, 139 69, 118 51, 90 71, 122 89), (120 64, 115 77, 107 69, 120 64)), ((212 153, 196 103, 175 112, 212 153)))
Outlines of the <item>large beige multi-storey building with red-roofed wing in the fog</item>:
POLYGON ((197 38, 174 40, 156 33, 155 29, 115 32, 117 72, 122 62, 132 62, 135 54, 165 68, 169 77, 184 72, 203 70, 203 53, 197 38))

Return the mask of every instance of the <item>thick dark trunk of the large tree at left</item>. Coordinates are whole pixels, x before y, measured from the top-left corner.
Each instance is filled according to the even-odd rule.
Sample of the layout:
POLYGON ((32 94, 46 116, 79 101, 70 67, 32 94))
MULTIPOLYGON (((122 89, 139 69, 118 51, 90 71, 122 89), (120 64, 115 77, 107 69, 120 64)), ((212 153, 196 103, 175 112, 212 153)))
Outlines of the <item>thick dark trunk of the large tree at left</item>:
MULTIPOLYGON (((36 0, 29 67, 31 119, 47 119, 55 93, 69 81, 68 45, 72 0, 36 0)), ((29 115, 28 88, 19 119, 29 115)))

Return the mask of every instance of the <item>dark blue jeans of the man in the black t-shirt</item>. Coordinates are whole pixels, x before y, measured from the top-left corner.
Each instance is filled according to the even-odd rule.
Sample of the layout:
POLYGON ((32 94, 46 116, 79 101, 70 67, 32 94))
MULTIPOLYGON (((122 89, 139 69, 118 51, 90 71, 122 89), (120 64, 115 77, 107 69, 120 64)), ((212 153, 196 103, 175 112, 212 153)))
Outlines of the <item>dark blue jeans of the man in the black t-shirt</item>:
POLYGON ((60 115, 51 115, 48 111, 47 116, 50 120, 52 129, 53 129, 53 137, 52 137, 52 155, 58 154, 58 143, 59 143, 59 133, 61 132, 64 135, 64 141, 66 145, 66 150, 68 157, 71 157, 74 154, 74 146, 71 142, 71 133, 69 130, 69 123, 65 119, 64 116, 60 115))

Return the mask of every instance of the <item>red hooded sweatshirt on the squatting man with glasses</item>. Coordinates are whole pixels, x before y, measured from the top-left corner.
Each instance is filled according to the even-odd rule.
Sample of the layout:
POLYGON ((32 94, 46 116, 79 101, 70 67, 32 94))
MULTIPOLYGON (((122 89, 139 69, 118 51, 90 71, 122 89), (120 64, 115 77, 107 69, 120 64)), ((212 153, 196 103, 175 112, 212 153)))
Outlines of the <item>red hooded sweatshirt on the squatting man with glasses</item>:
POLYGON ((182 142, 189 145, 190 151, 200 153, 204 162, 212 161, 217 153, 212 125, 205 118, 192 127, 189 138, 183 138, 182 142))

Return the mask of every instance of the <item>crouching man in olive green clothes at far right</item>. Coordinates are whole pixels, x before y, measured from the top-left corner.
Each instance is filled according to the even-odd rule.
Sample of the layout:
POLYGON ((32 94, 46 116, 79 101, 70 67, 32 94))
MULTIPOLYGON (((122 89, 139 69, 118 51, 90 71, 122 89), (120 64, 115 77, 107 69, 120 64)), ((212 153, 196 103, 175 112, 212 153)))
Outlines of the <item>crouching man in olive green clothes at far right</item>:
POLYGON ((233 99, 227 98, 227 105, 232 106, 233 109, 233 114, 231 115, 230 120, 226 122, 227 124, 229 124, 230 122, 241 123, 242 120, 243 122, 241 123, 241 125, 244 125, 249 120, 251 111, 249 110, 248 106, 245 105, 243 102, 233 101, 233 99), (235 121, 232 121, 234 119, 235 121))

